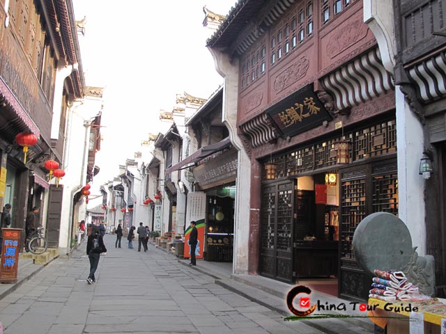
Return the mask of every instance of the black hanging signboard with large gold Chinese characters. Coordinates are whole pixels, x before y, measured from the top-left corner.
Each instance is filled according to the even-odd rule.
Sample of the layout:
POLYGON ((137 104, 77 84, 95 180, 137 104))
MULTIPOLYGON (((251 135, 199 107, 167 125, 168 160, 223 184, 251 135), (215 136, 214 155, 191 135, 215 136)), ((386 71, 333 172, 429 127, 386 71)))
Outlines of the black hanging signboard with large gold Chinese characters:
POLYGON ((305 86, 265 112, 283 136, 295 136, 332 119, 314 93, 313 85, 305 86))

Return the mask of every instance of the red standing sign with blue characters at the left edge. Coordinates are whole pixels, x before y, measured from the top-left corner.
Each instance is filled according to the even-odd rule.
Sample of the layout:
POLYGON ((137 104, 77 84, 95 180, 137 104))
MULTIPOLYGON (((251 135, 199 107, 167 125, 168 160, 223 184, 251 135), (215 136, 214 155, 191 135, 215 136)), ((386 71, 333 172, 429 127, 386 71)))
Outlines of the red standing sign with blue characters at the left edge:
POLYGON ((2 228, 0 283, 16 283, 19 268, 21 228, 2 228))

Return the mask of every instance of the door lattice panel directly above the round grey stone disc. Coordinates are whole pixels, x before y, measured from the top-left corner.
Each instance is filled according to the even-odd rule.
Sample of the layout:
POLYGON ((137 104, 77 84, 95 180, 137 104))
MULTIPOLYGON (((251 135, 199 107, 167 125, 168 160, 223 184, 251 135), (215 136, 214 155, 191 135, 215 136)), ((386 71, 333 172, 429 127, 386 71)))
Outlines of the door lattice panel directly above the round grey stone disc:
POLYGON ((388 212, 398 216, 397 173, 375 176, 372 186, 374 212, 388 212))

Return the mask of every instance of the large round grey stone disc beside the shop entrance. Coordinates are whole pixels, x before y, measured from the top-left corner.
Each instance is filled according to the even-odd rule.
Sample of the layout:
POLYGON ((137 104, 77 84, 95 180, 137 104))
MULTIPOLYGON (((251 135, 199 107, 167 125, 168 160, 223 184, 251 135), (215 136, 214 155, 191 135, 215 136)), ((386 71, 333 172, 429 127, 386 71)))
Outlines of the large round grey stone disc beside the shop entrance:
POLYGON ((387 212, 362 219, 353 234, 357 264, 374 275, 374 269, 401 270, 413 253, 412 238, 403 221, 387 212))

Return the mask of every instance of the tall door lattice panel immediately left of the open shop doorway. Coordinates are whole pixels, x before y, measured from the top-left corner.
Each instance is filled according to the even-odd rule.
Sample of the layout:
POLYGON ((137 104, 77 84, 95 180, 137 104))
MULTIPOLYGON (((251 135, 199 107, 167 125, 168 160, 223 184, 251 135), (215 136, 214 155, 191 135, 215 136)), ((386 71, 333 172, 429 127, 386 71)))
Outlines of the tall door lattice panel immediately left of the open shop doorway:
POLYGON ((277 198, 277 249, 291 250, 293 189, 279 191, 277 198))

